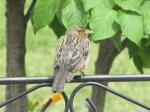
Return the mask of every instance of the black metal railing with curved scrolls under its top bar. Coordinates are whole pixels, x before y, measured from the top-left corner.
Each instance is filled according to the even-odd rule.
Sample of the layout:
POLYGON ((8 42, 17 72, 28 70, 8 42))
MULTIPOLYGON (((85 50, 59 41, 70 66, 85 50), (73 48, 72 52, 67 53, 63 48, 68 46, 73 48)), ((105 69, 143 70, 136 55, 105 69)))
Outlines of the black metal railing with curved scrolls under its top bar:
MULTIPOLYGON (((21 98, 22 96, 29 94, 39 88, 42 87, 51 87, 53 83, 54 77, 1 77, 0 78, 0 85, 8 85, 8 84, 38 84, 20 94, 17 96, 0 103, 0 108, 3 106, 6 106, 7 104, 21 98)), ((116 96, 119 96, 129 102, 132 102, 138 106, 141 106, 147 110, 150 110, 150 105, 146 105, 136 99, 130 98, 119 91, 116 91, 114 89, 111 89, 107 86, 104 86, 101 84, 101 82, 141 82, 141 81, 150 81, 150 75, 149 74, 141 74, 141 75, 87 75, 87 76, 75 76, 74 79, 70 83, 81 83, 79 86, 77 86, 71 93, 71 96, 68 97, 65 92, 62 93, 65 101, 65 110, 64 112, 68 112, 69 110, 71 112, 74 112, 74 106, 73 101, 76 93, 87 86, 97 86, 99 88, 102 88, 106 90, 107 92, 110 92, 116 96)), ((89 108, 93 110, 93 112, 97 112, 97 108, 95 107, 94 103, 86 98, 85 99, 89 105, 89 108)), ((42 107, 40 112, 44 112, 48 105, 51 103, 51 100, 49 99, 46 104, 42 107)))

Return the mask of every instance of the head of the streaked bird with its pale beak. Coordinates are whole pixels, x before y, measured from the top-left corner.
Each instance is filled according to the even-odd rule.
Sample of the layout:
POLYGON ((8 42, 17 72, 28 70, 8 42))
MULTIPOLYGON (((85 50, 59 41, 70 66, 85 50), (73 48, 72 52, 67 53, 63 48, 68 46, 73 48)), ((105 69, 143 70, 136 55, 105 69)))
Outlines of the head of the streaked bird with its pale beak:
POLYGON ((75 36, 79 38, 86 38, 92 33, 93 31, 81 26, 73 26, 66 31, 67 35, 70 35, 71 37, 75 36))

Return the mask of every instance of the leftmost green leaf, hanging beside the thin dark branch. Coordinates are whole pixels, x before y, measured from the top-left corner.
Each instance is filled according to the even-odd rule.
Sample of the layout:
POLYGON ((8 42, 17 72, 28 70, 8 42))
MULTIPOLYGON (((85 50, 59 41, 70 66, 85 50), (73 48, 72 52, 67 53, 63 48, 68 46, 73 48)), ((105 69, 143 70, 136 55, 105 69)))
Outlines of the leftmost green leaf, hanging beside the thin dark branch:
POLYGON ((32 15, 32 25, 36 33, 40 28, 50 24, 57 9, 58 0, 38 0, 32 15))

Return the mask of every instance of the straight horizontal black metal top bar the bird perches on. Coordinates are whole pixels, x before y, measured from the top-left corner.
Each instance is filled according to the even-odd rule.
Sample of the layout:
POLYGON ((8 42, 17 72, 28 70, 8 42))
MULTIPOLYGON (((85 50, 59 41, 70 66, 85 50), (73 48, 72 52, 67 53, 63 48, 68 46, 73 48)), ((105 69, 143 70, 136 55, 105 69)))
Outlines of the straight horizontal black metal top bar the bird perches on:
MULTIPOLYGON (((54 77, 1 77, 0 84, 37 84, 52 83, 54 77)), ((150 81, 150 74, 140 75, 86 75, 75 76, 70 82, 132 82, 132 81, 150 81)))

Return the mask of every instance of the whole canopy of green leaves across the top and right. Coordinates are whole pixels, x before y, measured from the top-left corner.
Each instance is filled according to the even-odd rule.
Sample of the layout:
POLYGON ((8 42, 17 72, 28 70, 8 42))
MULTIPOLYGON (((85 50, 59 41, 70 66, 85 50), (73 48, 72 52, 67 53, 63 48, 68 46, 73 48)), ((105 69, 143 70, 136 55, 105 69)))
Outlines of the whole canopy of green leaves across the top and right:
POLYGON ((32 24, 35 32, 49 25, 58 37, 72 25, 89 26, 93 41, 112 38, 118 49, 124 35, 130 57, 143 72, 150 67, 149 8, 149 0, 37 0, 32 24))

